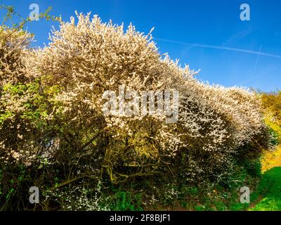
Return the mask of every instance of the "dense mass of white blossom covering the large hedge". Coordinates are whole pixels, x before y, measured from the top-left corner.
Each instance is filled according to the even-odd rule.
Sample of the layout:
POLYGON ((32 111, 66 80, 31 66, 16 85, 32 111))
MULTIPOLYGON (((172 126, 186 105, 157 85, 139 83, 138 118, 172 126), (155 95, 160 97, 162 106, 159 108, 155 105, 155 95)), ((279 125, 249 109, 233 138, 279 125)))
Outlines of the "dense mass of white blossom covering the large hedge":
MULTIPOLYGON (((131 175, 120 167, 134 167, 137 176, 150 174, 185 152, 191 177, 203 168, 211 172, 228 167, 233 154, 264 134, 256 94, 200 82, 196 72, 162 56, 151 34, 137 32, 133 25, 124 32, 123 25, 102 23, 98 16, 77 14, 77 18, 53 30, 50 44, 43 49, 27 49, 31 36, 25 32, 1 41, 0 148, 6 152, 2 157, 30 162, 34 154, 46 155, 47 149, 49 160, 58 152, 94 155, 100 151, 101 170, 115 181, 131 175), (30 88, 28 82, 37 82, 39 88, 30 88), (22 94, 10 84, 27 88, 22 94), (140 93, 178 91, 178 121, 166 124, 157 114, 105 115, 103 94, 118 93, 120 85, 140 93), (17 144, 9 141, 13 132, 12 142, 17 144), (32 145, 31 134, 37 136, 32 145), (48 143, 55 143, 53 150, 48 143), (27 149, 28 158, 22 149, 27 149)), ((5 32, 1 30, 2 37, 5 32)))

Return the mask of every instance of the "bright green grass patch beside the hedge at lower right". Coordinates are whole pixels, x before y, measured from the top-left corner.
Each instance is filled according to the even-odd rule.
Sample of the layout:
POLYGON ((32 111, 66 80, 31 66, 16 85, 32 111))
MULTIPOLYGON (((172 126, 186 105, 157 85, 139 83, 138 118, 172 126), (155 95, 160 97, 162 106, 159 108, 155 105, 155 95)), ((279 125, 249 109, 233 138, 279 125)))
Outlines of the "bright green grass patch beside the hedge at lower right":
POLYGON ((263 174, 256 193, 262 199, 251 211, 280 211, 281 210, 281 167, 273 167, 263 174))

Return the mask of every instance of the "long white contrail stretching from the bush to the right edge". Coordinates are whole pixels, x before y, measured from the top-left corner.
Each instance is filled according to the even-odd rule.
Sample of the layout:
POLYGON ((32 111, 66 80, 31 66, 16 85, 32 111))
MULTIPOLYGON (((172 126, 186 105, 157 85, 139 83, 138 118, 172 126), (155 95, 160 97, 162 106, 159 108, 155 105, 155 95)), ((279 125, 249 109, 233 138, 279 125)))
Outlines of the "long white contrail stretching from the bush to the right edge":
POLYGON ((215 46, 215 45, 209 45, 209 44, 192 44, 188 42, 182 42, 182 41, 173 41, 173 40, 168 40, 168 39, 160 39, 160 38, 155 38, 157 41, 166 41, 170 43, 175 43, 175 44, 185 44, 188 46, 195 46, 195 47, 202 47, 202 48, 208 48, 208 49, 221 49, 221 50, 227 50, 227 51, 238 51, 242 53, 250 53, 250 54, 255 54, 259 56, 268 56, 268 57, 273 57, 273 58, 281 58, 281 56, 278 55, 273 55, 269 53, 263 53, 260 51, 251 51, 247 49, 235 49, 235 48, 229 48, 229 47, 223 47, 223 46, 215 46))

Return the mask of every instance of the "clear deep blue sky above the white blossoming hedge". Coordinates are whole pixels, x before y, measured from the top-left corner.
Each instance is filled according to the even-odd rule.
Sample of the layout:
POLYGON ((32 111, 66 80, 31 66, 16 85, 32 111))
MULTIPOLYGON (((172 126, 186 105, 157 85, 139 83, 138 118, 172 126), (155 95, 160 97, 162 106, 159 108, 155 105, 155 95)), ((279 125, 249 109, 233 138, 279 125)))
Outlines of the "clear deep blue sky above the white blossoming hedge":
MULTIPOLYGON (((62 15, 63 20, 74 11, 91 11, 104 22, 133 23, 141 32, 155 27, 152 34, 159 51, 200 69, 198 79, 262 91, 281 89, 279 0, 0 0, 0 4, 15 6, 24 17, 30 14, 30 4, 38 4, 40 12, 52 6, 51 14, 62 15), (250 21, 240 20, 243 3, 250 6, 250 21)), ((28 25, 37 40, 34 46, 48 44, 52 25, 43 20, 28 25)))

